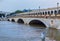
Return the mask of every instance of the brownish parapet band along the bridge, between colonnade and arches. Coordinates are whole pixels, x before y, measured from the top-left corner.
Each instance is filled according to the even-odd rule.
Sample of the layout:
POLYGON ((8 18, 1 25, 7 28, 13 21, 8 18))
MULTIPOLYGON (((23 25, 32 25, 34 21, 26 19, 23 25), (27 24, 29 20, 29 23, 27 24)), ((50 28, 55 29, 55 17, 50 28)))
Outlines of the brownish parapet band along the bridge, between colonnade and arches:
POLYGON ((60 14, 55 15, 40 15, 40 14, 21 14, 21 15, 14 15, 9 16, 7 18, 51 18, 51 19, 60 19, 60 14))

